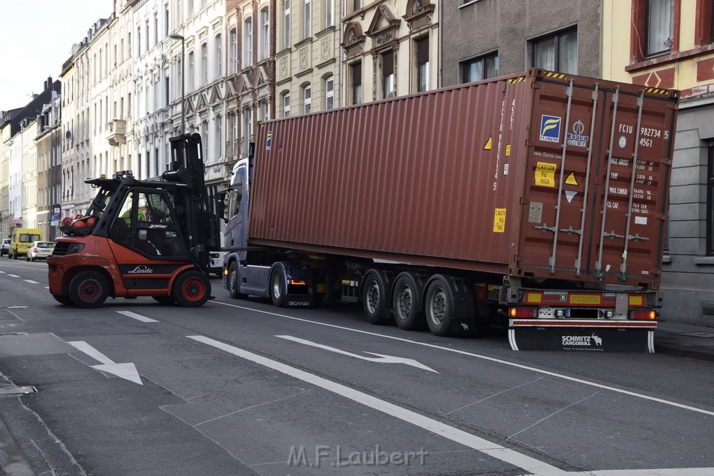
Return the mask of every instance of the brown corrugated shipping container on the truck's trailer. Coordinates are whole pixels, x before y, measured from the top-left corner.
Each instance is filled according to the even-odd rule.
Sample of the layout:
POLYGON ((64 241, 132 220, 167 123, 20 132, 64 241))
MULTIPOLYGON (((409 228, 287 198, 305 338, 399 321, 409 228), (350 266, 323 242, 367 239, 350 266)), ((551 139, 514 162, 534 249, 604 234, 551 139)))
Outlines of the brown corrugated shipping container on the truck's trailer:
POLYGON ((533 69, 261 123, 248 242, 657 289, 676 111, 533 69))

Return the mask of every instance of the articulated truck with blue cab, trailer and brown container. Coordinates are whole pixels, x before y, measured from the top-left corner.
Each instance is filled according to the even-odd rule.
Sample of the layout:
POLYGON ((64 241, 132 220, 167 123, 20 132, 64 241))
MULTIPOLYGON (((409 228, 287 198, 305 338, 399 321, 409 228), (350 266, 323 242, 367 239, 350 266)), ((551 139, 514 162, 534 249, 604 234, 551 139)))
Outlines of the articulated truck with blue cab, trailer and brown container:
POLYGON ((233 298, 361 303, 513 350, 653 352, 678 92, 531 69, 260 123, 233 298))

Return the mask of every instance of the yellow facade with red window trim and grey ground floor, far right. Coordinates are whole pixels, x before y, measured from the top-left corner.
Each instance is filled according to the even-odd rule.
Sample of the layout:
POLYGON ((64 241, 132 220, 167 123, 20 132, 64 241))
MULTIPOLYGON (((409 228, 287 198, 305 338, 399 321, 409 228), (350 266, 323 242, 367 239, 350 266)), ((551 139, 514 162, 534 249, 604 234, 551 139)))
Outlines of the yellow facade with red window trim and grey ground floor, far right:
POLYGON ((714 327, 714 21, 710 0, 604 2, 603 71, 680 90, 663 318, 714 327))

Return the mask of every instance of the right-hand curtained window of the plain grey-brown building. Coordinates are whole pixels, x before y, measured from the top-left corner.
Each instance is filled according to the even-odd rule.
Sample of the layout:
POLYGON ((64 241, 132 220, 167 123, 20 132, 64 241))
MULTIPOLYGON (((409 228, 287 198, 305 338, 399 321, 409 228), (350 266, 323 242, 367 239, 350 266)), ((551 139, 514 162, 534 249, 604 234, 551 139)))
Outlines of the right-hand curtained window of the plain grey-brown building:
POLYGON ((578 31, 560 31, 531 41, 531 66, 578 74, 578 31))

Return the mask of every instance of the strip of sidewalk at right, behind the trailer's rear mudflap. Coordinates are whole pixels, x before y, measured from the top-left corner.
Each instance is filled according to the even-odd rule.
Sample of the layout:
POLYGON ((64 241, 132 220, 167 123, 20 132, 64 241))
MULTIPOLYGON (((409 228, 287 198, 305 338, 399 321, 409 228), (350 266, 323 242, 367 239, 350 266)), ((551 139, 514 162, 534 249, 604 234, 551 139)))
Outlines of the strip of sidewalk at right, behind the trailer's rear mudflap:
POLYGON ((658 322, 655 353, 714 362, 714 328, 658 322))

